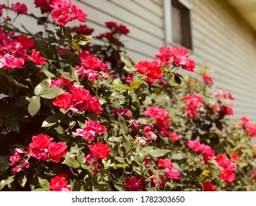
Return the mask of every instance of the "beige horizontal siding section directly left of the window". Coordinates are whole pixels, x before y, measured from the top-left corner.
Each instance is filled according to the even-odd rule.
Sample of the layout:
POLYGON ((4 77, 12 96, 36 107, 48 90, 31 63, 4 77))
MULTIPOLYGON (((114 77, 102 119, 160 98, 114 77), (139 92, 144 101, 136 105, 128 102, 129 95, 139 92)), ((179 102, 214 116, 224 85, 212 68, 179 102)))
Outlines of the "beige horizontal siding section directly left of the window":
MULTIPOLYGON (((122 37, 122 41, 131 59, 138 62, 139 60, 151 60, 153 55, 159 51, 159 45, 165 43, 164 21, 159 17, 163 14, 162 8, 150 0, 146 1, 158 7, 159 10, 151 13, 136 1, 126 0, 86 0, 77 1, 76 4, 88 14, 89 23, 94 22, 104 26, 105 21, 116 21, 128 26, 130 33, 122 37)), ((96 32, 103 31, 103 29, 96 30, 96 32)))

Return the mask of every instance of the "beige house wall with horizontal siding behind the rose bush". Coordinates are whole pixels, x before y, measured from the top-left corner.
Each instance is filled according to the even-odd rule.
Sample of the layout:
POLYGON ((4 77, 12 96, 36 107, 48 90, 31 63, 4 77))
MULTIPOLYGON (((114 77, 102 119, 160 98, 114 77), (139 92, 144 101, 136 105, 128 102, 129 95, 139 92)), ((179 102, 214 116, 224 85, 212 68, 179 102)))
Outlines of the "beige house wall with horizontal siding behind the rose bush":
MULTIPOLYGON (((7 0, 4 0, 7 2, 7 0)), ((9 0, 10 4, 17 2, 9 0)), ((19 0, 27 3, 27 0, 19 0)), ((73 0, 88 14, 94 35, 105 31, 105 21, 117 21, 130 29, 122 38, 128 55, 135 61, 152 60, 165 41, 162 0, 73 0)), ((6 3, 7 4, 7 3, 6 3)), ((38 13, 29 4, 29 13, 38 13)), ((193 0, 191 12, 193 50, 191 59, 204 60, 212 70, 215 88, 235 96, 235 118, 246 116, 256 123, 256 35, 238 13, 223 0, 193 0)), ((20 21, 30 30, 41 30, 35 20, 20 21)), ((198 67, 199 68, 199 67, 198 67)))

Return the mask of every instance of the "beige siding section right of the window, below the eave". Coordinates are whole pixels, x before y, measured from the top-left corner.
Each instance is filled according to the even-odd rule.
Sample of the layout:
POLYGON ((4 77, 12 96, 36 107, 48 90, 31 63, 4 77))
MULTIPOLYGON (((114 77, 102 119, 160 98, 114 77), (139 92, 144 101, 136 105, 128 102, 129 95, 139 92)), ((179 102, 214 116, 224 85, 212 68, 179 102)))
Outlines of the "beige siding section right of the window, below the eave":
POLYGON ((256 122, 256 35, 226 1, 194 0, 193 55, 207 60, 215 87, 235 96, 235 118, 256 122))

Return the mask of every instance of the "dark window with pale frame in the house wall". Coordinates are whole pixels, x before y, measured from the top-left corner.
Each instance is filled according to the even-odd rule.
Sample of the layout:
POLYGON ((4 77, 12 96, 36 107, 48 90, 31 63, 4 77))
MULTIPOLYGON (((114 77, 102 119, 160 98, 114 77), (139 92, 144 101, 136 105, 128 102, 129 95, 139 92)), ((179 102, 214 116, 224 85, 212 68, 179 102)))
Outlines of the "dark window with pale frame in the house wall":
POLYGON ((164 0, 165 38, 168 44, 192 49, 191 0, 164 0))

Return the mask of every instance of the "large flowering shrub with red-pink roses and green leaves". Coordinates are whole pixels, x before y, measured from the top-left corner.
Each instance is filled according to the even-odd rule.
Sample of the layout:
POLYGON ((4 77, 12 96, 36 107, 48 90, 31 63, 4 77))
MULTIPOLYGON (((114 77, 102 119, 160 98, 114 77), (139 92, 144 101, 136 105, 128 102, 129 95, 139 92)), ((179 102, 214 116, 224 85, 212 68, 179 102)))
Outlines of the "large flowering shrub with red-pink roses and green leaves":
POLYGON ((72 1, 35 6, 55 32, 21 32, 0 6, 0 190, 256 190, 256 126, 226 117, 234 97, 209 92, 206 69, 177 72, 195 71, 187 49, 134 63, 126 26, 106 22, 96 45, 72 1))

